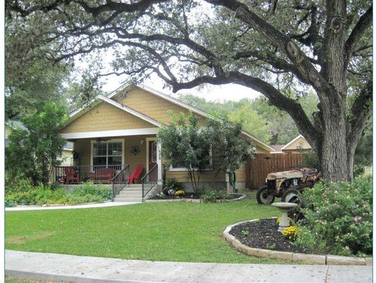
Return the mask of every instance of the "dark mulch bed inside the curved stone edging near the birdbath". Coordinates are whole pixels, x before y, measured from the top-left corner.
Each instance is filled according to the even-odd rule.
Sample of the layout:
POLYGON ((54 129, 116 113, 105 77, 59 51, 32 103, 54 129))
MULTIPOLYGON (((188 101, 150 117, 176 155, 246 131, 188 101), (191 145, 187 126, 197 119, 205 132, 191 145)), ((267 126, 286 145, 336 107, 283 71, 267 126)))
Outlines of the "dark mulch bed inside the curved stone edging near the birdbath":
MULTIPOLYGON (((313 253, 310 250, 295 247, 277 229, 278 224, 276 223, 276 219, 260 219, 259 221, 236 225, 231 229, 230 234, 250 248, 278 250, 280 252, 313 253), (242 231, 248 231, 249 236, 244 236, 242 231)), ((315 252, 315 254, 318 253, 315 252)))

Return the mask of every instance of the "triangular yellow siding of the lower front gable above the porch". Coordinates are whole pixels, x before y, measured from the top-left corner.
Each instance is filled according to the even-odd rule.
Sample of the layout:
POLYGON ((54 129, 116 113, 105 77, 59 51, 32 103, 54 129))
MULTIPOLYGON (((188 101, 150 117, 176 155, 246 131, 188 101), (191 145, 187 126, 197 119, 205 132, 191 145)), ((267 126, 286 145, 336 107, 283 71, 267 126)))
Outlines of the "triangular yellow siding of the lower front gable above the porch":
POLYGON ((111 104, 101 102, 99 105, 77 118, 77 120, 64 127, 61 133, 142 128, 155 128, 155 125, 116 108, 111 104))

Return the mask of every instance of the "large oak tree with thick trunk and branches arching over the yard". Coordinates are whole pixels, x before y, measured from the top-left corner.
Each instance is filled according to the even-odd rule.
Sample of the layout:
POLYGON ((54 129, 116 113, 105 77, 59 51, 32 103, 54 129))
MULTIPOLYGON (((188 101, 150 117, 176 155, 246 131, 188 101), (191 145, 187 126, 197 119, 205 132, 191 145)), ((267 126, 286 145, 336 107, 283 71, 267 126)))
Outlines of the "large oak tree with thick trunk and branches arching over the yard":
POLYGON ((6 1, 7 21, 38 21, 37 42, 56 62, 112 48, 113 74, 155 73, 174 92, 204 83, 261 92, 292 117, 331 181, 352 179, 370 117, 372 17, 371 1, 355 0, 6 1), (313 122, 299 104, 312 90, 313 122))

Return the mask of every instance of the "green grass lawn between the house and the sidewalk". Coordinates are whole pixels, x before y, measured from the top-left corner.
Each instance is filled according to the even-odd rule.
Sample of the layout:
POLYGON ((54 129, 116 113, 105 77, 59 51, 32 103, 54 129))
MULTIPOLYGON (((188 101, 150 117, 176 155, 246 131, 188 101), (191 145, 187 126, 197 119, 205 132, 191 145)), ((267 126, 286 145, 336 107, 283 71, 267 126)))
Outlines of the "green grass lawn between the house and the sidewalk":
POLYGON ((226 226, 278 216, 254 200, 145 203, 100 209, 7 211, 6 248, 154 261, 278 264, 228 245, 226 226))

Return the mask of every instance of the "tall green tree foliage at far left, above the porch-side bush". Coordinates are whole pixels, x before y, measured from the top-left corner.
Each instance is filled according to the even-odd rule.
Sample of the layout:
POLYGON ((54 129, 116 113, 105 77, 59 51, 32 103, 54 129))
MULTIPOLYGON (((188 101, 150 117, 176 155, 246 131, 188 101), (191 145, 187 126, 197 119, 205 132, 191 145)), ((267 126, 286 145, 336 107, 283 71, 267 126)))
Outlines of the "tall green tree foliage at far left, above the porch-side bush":
POLYGON ((41 102, 67 106, 65 93, 72 67, 64 62, 55 64, 45 57, 53 49, 38 36, 44 31, 36 17, 6 18, 6 119, 41 111, 41 102))

